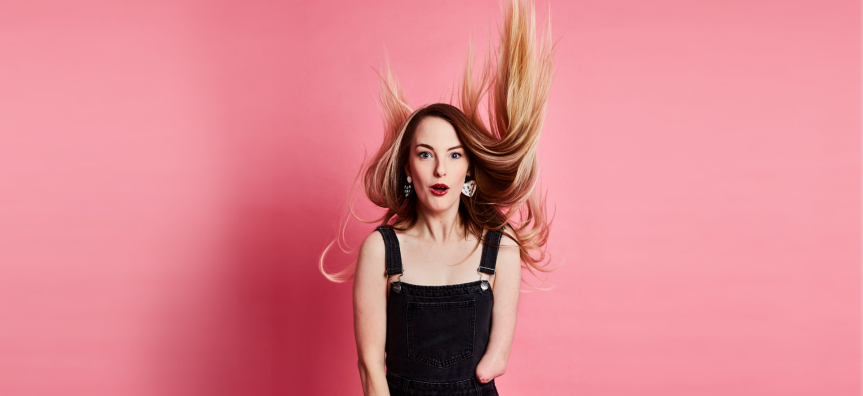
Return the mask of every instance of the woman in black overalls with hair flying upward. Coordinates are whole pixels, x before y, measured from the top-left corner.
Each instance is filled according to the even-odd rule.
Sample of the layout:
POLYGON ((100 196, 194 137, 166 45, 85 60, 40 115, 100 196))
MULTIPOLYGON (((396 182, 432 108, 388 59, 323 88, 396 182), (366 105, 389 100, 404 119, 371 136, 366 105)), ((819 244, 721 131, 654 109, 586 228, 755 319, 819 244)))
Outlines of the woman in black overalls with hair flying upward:
POLYGON ((535 43, 533 14, 506 6, 496 62, 474 81, 469 56, 458 107, 412 110, 389 65, 381 77, 387 133, 364 187, 387 211, 360 247, 353 291, 365 395, 498 394, 521 263, 549 271, 535 187, 553 51, 550 26, 535 43))

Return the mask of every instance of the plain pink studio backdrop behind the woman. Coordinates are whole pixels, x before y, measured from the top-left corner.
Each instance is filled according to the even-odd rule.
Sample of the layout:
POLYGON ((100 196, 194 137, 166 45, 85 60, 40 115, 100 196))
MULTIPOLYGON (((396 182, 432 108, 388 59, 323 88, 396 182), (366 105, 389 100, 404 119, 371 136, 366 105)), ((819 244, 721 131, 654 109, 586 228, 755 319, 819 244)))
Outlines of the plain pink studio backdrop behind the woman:
MULTIPOLYGON (((0 4, 0 394, 361 395, 316 260, 372 67, 448 98, 497 1, 74 3, 0 4)), ((501 394, 859 395, 859 2, 551 8, 563 267, 501 394)))

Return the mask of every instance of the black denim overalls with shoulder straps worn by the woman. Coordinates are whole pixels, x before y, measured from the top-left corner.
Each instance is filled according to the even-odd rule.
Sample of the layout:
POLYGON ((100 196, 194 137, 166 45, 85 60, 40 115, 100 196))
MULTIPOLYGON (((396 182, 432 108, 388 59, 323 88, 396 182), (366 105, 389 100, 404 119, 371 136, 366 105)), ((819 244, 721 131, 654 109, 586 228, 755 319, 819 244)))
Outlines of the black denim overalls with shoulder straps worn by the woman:
MULTIPOLYGON (((380 226, 386 275, 400 275, 395 231, 380 226)), ((501 233, 486 240, 500 245, 501 233)), ((498 247, 483 246, 479 271, 494 275, 498 247)), ((482 277, 482 275, 480 275, 482 277)), ((401 279, 401 277, 399 277, 401 279)), ((392 396, 498 396, 494 380, 476 379, 476 366, 491 334, 494 295, 487 279, 458 285, 422 286, 393 281, 387 301, 386 366, 392 396)))

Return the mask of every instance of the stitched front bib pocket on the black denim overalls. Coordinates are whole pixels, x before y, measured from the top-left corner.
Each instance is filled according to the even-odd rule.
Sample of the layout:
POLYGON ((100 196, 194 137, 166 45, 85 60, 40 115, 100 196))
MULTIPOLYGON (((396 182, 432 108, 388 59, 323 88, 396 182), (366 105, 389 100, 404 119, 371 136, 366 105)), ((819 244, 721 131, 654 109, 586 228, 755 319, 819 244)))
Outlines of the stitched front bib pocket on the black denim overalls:
POLYGON ((476 301, 408 302, 408 356, 446 367, 473 356, 476 301))

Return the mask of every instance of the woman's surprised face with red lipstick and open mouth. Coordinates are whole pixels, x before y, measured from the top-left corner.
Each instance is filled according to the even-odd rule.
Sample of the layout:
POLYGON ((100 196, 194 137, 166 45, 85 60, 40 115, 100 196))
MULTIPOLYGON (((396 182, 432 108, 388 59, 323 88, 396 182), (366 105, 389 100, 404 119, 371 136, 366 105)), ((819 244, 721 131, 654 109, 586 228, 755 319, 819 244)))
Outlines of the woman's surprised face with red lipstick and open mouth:
POLYGON ((442 118, 428 116, 417 125, 405 172, 419 203, 433 212, 459 204, 468 159, 455 129, 442 118), (443 187, 448 188, 435 188, 443 187))

